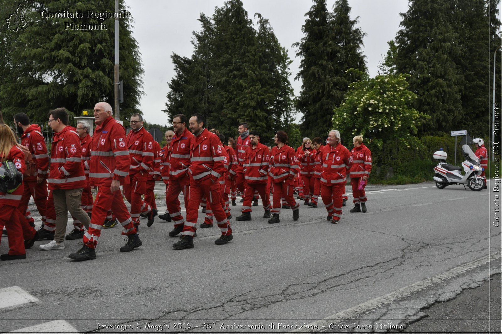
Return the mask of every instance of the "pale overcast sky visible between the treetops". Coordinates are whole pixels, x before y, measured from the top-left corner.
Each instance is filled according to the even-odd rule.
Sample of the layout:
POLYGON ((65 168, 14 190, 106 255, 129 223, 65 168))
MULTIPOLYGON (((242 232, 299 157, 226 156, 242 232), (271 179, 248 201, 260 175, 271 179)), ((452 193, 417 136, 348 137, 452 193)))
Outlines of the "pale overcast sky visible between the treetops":
MULTIPOLYGON (((168 124, 167 114, 161 110, 167 102, 167 82, 174 76, 171 54, 190 57, 193 51, 192 32, 199 31, 197 19, 200 13, 211 17, 215 7, 223 6, 223 0, 127 0, 134 19, 133 36, 138 41, 145 69, 140 109, 145 120, 155 124, 168 124)), ((302 25, 305 13, 310 10, 309 0, 242 0, 247 15, 256 24, 255 13, 269 20, 279 42, 289 49, 291 84, 298 95, 301 82, 294 80, 300 58, 291 45, 303 37, 302 25)), ((335 0, 328 0, 332 10, 335 0)), ((408 10, 407 0, 349 0, 350 18, 359 17, 358 27, 366 33, 362 48, 371 76, 376 75, 378 63, 388 50, 387 42, 396 37, 401 23, 399 13, 408 10)), ((301 115, 298 115, 297 121, 301 115)))

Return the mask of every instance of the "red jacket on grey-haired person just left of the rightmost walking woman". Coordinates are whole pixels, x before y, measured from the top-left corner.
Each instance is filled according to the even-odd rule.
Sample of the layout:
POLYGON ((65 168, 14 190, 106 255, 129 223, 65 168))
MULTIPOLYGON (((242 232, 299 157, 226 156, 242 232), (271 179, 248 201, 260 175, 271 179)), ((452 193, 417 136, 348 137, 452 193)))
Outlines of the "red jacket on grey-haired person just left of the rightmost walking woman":
POLYGON ((335 147, 325 145, 321 150, 321 184, 332 186, 333 184, 345 184, 347 181, 347 169, 350 168, 350 152, 342 144, 335 147))

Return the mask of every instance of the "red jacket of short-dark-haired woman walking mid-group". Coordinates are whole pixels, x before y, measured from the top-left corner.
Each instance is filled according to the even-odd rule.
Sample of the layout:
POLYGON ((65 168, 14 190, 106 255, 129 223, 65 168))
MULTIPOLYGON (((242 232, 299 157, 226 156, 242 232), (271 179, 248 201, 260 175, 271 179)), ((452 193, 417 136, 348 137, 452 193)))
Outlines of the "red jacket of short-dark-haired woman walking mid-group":
POLYGON ((299 170, 298 158, 295 150, 288 145, 272 147, 270 153, 270 176, 274 183, 279 183, 287 179, 293 179, 299 170))

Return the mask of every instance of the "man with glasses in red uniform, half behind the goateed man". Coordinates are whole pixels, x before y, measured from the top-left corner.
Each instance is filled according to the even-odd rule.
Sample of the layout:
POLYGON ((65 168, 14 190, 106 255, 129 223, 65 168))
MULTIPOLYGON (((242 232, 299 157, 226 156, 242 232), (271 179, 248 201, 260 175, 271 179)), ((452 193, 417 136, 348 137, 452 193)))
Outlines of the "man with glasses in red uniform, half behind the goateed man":
MULTIPOLYGON (((181 215, 181 206, 178 196, 183 192, 185 199, 185 209, 188 208, 190 197, 190 178, 188 168, 190 166, 190 147, 195 140, 193 134, 187 129, 187 117, 178 114, 173 117, 174 137, 168 151, 169 160, 169 186, 166 194, 167 209, 174 222, 174 228, 169 232, 170 237, 174 237, 183 231, 185 219, 181 215)), ((199 203, 196 204, 199 207, 199 203)))

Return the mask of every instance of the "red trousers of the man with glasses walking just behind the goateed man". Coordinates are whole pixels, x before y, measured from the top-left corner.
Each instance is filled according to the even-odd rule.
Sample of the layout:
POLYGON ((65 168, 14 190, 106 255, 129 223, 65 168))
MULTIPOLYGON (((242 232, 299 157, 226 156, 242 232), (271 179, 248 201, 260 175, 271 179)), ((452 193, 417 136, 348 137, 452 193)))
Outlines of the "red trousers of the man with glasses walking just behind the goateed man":
MULTIPOLYGON (((185 197, 185 210, 187 210, 188 214, 188 200, 190 198, 190 179, 188 175, 176 180, 169 179, 169 186, 167 187, 166 193, 166 204, 167 210, 174 222, 174 227, 183 226, 185 223, 185 219, 181 215, 180 201, 178 200, 178 196, 181 192, 183 192, 183 196, 185 197), (176 199, 176 201, 174 199, 176 199)), ((196 210, 198 210, 199 203, 194 205, 196 210)))

